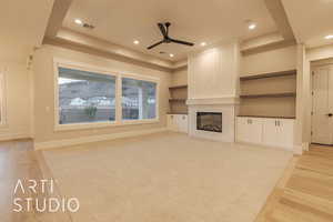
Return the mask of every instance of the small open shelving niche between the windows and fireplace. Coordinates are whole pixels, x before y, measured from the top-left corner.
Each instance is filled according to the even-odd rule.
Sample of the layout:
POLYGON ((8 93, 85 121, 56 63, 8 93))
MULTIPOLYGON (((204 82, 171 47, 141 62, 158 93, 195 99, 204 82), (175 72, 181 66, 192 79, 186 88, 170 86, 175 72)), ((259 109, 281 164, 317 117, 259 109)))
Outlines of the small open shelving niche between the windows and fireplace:
POLYGON ((168 114, 188 113, 188 85, 174 85, 169 88, 171 98, 169 99, 170 112, 168 114))

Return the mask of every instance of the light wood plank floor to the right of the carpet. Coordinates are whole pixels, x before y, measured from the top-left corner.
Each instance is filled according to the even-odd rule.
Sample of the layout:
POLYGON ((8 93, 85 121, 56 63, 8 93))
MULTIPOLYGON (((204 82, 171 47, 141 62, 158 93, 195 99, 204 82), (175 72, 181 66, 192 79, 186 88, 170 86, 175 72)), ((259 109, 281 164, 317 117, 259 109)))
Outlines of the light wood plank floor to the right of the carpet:
POLYGON ((333 147, 294 157, 256 222, 332 222, 333 147))

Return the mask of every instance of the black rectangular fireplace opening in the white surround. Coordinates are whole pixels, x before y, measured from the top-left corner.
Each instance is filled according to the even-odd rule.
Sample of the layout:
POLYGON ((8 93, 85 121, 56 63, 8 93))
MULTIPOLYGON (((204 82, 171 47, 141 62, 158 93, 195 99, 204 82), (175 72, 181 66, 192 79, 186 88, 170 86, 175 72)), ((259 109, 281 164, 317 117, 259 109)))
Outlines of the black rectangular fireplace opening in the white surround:
POLYGON ((196 130, 222 132, 222 112, 196 112, 196 130))

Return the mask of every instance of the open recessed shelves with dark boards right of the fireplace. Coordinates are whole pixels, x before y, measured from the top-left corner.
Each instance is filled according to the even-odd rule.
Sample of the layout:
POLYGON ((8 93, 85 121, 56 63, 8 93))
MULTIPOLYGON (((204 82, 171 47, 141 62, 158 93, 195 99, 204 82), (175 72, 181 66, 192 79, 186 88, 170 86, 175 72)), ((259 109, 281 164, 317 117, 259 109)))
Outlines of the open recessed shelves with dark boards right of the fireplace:
POLYGON ((240 117, 295 117, 296 70, 240 77, 240 117))

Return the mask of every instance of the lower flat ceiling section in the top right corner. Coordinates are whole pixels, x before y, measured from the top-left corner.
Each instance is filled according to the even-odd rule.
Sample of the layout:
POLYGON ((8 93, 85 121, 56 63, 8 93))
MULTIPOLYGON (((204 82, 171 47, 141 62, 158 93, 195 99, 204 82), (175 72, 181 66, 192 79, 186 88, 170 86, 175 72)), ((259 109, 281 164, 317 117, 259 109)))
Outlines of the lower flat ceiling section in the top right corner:
POLYGON ((333 0, 282 0, 290 23, 300 42, 307 47, 333 43, 333 0))

